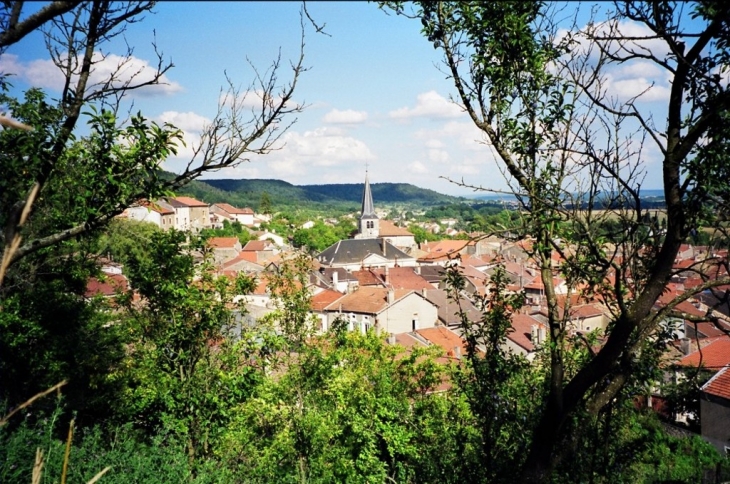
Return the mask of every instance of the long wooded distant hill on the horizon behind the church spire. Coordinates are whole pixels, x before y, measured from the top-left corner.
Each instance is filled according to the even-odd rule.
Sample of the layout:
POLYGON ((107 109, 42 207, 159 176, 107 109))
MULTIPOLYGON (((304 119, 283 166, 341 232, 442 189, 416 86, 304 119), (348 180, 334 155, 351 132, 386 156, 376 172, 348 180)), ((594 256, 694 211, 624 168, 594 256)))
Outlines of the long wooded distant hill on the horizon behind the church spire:
MULTIPOLYGON (((375 205, 400 203, 430 207, 457 203, 462 198, 443 195, 408 183, 373 183, 370 185, 375 205)), ((331 185, 292 185, 282 180, 199 180, 180 190, 208 203, 226 201, 237 206, 256 208, 261 195, 267 193, 274 207, 313 209, 357 209, 362 201, 362 183, 331 185)))

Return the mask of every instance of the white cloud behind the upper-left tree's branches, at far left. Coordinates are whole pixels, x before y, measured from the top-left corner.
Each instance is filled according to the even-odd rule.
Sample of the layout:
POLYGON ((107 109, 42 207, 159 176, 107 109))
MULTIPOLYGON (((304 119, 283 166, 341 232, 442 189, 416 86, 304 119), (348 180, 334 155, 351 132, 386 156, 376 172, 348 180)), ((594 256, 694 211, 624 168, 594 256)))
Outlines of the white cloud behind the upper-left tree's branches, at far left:
MULTIPOLYGON (((121 57, 116 54, 109 54, 103 57, 101 53, 95 52, 93 56, 94 66, 89 76, 89 87, 91 90, 112 79, 112 87, 122 87, 127 83, 131 85, 149 82, 156 74, 156 68, 151 66, 144 59, 134 56, 121 57)), ((13 54, 2 54, 0 56, 0 72, 13 74, 17 78, 27 82, 34 87, 60 91, 65 82, 64 74, 50 59, 37 59, 23 62, 13 54)), ((162 75, 159 84, 145 86, 130 92, 133 97, 147 97, 168 95, 179 92, 182 87, 177 82, 171 81, 167 75, 162 75)))

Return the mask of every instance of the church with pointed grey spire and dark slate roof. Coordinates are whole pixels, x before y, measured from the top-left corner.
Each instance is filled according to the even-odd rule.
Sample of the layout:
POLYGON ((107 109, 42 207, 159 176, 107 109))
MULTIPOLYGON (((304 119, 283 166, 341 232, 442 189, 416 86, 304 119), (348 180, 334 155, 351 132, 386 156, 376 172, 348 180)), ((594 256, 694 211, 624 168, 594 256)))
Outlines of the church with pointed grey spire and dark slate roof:
POLYGON ((413 237, 413 234, 392 223, 381 221, 375 213, 370 180, 365 174, 365 187, 362 194, 362 209, 358 232, 354 238, 335 242, 316 257, 324 267, 341 267, 349 270, 370 267, 415 266, 416 259, 392 243, 393 237, 413 237), (381 225, 392 226, 395 230, 381 231, 381 225))

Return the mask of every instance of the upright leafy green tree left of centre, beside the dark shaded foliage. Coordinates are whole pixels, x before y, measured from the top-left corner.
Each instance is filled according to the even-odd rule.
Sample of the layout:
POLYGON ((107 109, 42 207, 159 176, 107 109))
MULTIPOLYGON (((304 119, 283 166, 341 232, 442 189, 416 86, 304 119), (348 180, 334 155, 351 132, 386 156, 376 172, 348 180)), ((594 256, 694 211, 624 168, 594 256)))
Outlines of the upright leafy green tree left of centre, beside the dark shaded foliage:
POLYGON ((161 427, 183 439, 192 460, 208 452, 230 406, 245 399, 261 373, 250 362, 254 341, 245 334, 226 338, 236 324, 232 298, 249 291, 253 281, 216 277, 201 241, 184 246, 187 239, 177 231, 155 234, 151 257, 129 264, 141 302, 130 294, 125 303, 134 344, 121 407, 148 430, 161 427), (202 252, 201 265, 192 250, 202 252))

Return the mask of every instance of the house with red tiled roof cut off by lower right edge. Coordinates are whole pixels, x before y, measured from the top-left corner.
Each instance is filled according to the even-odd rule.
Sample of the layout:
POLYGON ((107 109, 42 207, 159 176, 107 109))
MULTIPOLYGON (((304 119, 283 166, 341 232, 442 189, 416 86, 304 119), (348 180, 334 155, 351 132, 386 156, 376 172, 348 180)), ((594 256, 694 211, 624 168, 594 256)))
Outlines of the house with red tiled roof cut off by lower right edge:
POLYGON ((700 389, 700 433, 721 455, 730 453, 730 367, 700 389))

